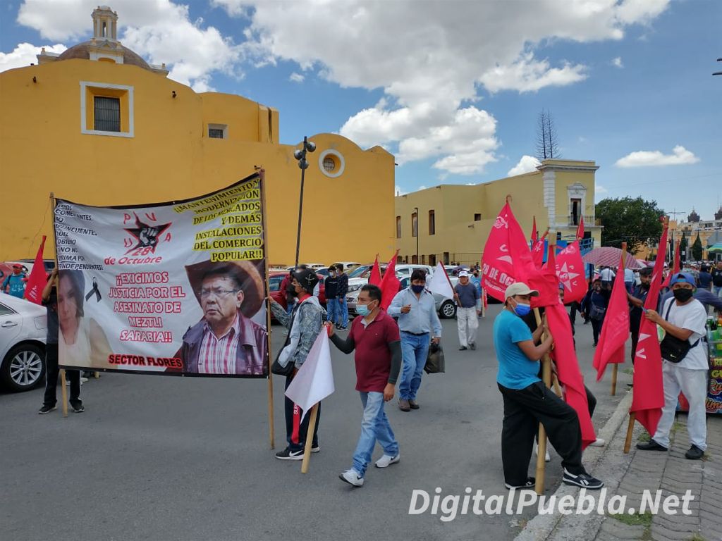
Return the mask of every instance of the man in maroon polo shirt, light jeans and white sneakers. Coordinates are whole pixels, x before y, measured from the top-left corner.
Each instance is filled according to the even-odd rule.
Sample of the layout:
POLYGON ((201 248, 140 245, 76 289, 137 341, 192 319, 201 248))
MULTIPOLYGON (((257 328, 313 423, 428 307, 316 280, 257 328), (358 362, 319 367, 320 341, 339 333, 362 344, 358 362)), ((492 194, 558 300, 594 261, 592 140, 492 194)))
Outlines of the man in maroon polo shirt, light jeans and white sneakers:
POLYGON ((383 403, 393 398, 401 369, 401 337, 398 325, 380 304, 379 287, 366 284, 356 304, 360 317, 353 320, 345 340, 334 334, 334 327, 326 323, 337 348, 344 353, 356 350, 356 390, 363 405, 361 436, 353 467, 339 475, 342 481, 355 487, 363 485, 376 441, 383 448, 383 457, 376 461, 376 467, 388 467, 401 459, 399 444, 383 410, 383 403))

